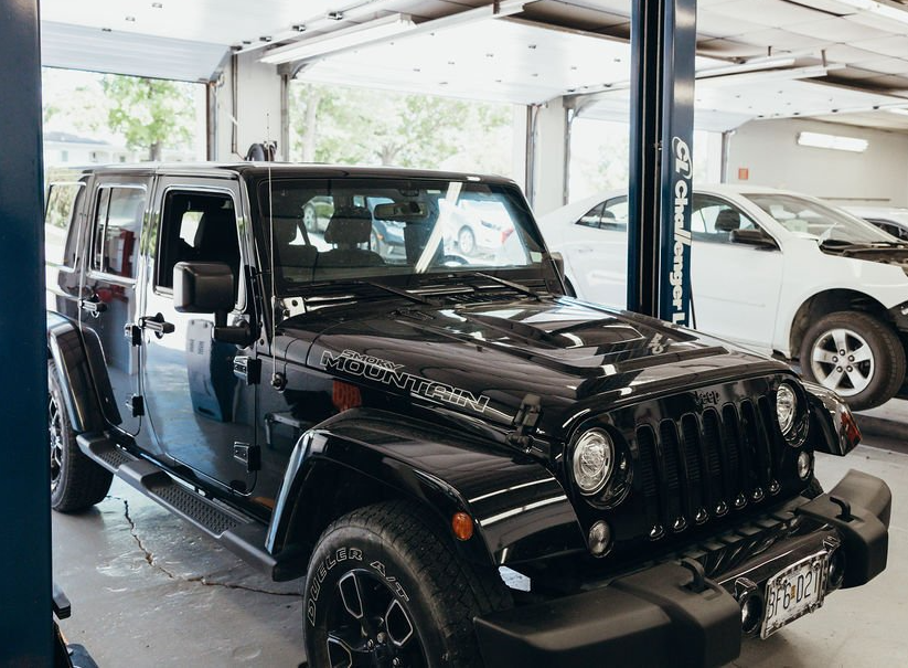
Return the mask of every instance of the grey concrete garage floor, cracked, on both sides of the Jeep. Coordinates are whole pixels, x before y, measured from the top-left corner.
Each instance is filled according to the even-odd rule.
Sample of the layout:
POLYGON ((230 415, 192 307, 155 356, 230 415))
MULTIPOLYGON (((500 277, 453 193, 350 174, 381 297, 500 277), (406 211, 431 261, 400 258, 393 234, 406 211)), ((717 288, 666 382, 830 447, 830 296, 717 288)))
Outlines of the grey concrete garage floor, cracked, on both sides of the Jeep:
MULTIPOLYGON (((895 416, 908 424, 908 402, 899 402, 895 416)), ((884 417, 891 418, 891 411, 884 417)), ((827 488, 848 468, 891 487, 886 572, 836 592, 821 611, 765 642, 746 640, 733 666, 908 666, 906 443, 867 433, 865 445, 847 457, 818 458, 827 488)), ((61 627, 102 668, 296 668, 305 660, 297 584, 259 576, 120 481, 85 515, 53 513, 53 545, 54 579, 73 603, 73 616, 61 627)))

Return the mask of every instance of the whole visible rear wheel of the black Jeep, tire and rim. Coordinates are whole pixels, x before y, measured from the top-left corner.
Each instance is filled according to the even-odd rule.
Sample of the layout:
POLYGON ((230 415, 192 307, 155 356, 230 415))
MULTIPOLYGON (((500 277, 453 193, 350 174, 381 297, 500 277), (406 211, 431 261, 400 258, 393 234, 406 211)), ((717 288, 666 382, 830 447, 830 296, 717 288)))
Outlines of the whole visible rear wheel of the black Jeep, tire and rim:
POLYGON ((78 449, 53 362, 47 368, 47 385, 51 508, 60 512, 84 510, 107 496, 114 475, 78 449))

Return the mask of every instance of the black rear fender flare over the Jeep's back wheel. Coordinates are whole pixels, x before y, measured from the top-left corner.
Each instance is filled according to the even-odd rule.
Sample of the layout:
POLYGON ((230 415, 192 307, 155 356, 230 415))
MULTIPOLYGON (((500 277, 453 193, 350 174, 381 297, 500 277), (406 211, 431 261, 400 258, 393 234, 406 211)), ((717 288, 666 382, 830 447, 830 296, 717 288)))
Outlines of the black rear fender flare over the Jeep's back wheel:
POLYGON ((122 418, 114 399, 97 335, 47 312, 47 354, 56 367, 70 423, 78 433, 104 430, 122 418))

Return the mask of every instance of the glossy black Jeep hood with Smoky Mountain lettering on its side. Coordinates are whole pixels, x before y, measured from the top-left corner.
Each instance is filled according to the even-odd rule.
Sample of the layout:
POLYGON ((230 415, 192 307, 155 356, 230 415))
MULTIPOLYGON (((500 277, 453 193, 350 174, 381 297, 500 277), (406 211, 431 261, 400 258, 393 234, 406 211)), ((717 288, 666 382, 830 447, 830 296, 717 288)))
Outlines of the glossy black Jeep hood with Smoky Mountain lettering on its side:
POLYGON ((337 319, 311 316, 281 325, 285 336, 311 341, 289 346, 288 361, 501 425, 537 395, 542 428, 553 435, 599 406, 787 369, 660 320, 567 297, 392 311, 361 305, 337 319))

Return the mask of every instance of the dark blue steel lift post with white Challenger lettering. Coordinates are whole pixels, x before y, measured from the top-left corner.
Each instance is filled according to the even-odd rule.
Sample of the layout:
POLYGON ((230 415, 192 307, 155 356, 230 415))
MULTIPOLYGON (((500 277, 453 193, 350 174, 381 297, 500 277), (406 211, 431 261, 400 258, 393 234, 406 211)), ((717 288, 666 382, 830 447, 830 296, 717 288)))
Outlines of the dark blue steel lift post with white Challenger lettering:
POLYGON ((628 309, 691 321, 696 0, 633 0, 628 309))

